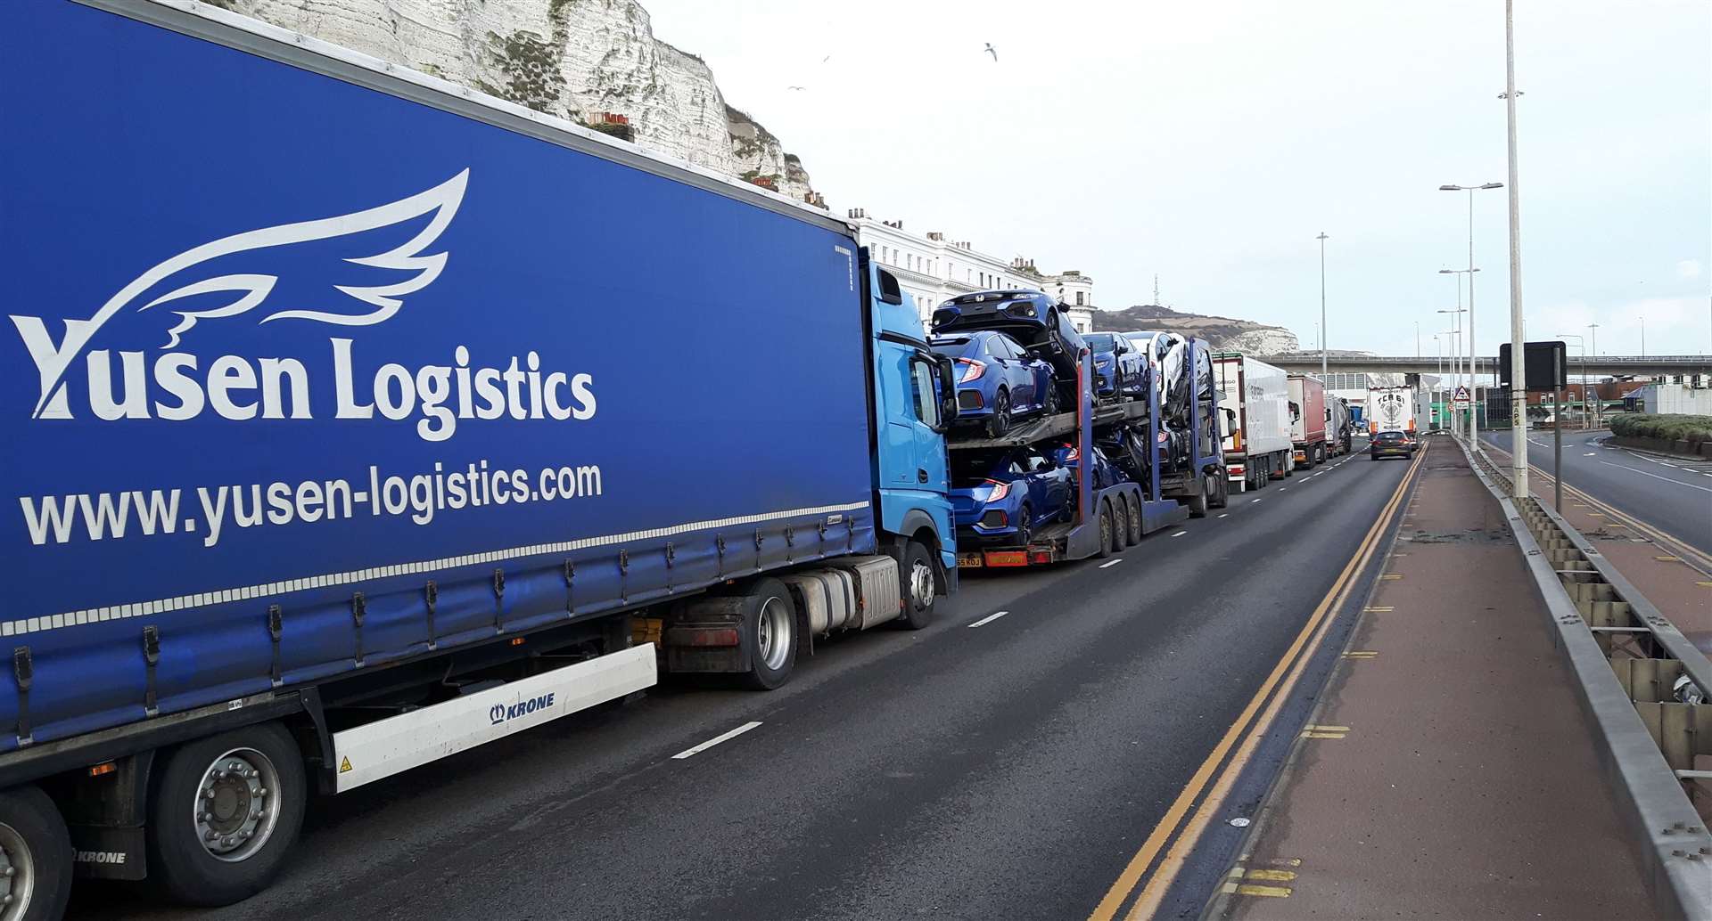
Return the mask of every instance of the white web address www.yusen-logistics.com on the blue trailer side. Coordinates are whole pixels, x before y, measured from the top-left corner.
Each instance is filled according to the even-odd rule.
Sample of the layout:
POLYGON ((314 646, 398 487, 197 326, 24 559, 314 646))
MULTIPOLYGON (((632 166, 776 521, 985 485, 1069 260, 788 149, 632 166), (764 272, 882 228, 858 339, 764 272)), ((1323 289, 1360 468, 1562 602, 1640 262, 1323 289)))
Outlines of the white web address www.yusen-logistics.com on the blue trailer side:
POLYGON ((368 468, 368 478, 240 484, 193 489, 21 496, 31 543, 200 535, 214 547, 228 528, 265 528, 358 516, 407 516, 428 525, 442 511, 555 502, 601 494, 596 465, 500 470, 488 461, 409 477, 368 468), (192 511, 197 509, 197 511, 192 511))

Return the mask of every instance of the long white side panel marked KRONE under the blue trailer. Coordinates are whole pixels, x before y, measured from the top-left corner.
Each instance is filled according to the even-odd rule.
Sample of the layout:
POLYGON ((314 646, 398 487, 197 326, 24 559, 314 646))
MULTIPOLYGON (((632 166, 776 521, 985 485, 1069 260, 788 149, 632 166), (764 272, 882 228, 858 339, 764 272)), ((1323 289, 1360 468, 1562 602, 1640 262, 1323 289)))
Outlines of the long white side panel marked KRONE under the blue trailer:
POLYGON ((337 793, 474 748, 657 682, 654 644, 332 733, 337 793))

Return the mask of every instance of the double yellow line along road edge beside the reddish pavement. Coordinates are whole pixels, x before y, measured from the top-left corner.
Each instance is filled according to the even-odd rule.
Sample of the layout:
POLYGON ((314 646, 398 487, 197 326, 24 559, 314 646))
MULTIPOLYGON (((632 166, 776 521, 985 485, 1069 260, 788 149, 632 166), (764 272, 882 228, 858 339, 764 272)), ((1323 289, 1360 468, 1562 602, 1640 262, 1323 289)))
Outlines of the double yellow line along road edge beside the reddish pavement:
POLYGON ((1231 728, 1226 730, 1224 738, 1221 738, 1212 748, 1207 760, 1195 769, 1188 784, 1183 786, 1183 791, 1178 793, 1171 808, 1166 810, 1164 818, 1159 820, 1159 825, 1156 825, 1152 834, 1147 836, 1147 841, 1142 842, 1142 849, 1137 851, 1135 856, 1130 858, 1130 863, 1123 866, 1123 871, 1118 873, 1118 880, 1111 883, 1111 889, 1106 890, 1106 897, 1101 899, 1099 906, 1094 907, 1094 912, 1089 914, 1089 921, 1113 921, 1118 916, 1118 911, 1135 894, 1135 887, 1144 877, 1147 877, 1147 870, 1154 865, 1159 851, 1164 849, 1166 842, 1169 842, 1173 834, 1176 834, 1181 827, 1183 834, 1176 837, 1176 844, 1173 844, 1171 851, 1166 853, 1159 868, 1147 877, 1147 885, 1135 900, 1135 907, 1132 907, 1125 918, 1145 919, 1152 918, 1154 911, 1157 911, 1159 902, 1171 889, 1178 871, 1183 868, 1183 861, 1186 859, 1190 849, 1212 822, 1212 817, 1224 803, 1231 786, 1234 786, 1236 779, 1241 776, 1243 767, 1246 767, 1253 759, 1260 740, 1267 735, 1267 730, 1272 728, 1272 721, 1277 718, 1279 709, 1282 709, 1284 701, 1289 699, 1289 692, 1296 687, 1296 682, 1301 678, 1308 661, 1313 660, 1313 653, 1320 648, 1320 641, 1325 639, 1327 629, 1335 620, 1335 617, 1330 615, 1342 607, 1346 596, 1359 581, 1356 574, 1361 572, 1378 550, 1382 537, 1385 535, 1392 518, 1397 514, 1402 497, 1414 484, 1416 472, 1421 468, 1421 461, 1426 460, 1428 451, 1430 446, 1423 448, 1416 455, 1414 463, 1409 465, 1409 472, 1404 475, 1402 482, 1397 484, 1397 492, 1394 492, 1390 501, 1385 502, 1378 519, 1368 530, 1366 537, 1361 538, 1361 545, 1349 559, 1349 564, 1344 566, 1344 571, 1337 574, 1337 581, 1332 583, 1330 591, 1327 591, 1325 598, 1320 600, 1320 605, 1313 608, 1313 615, 1308 617, 1301 632, 1296 634, 1294 642, 1289 644, 1284 656, 1275 666, 1272 666, 1272 673, 1267 675, 1260 690, 1255 692, 1253 699, 1248 701, 1248 706, 1243 707, 1243 713, 1239 713, 1236 721, 1231 723, 1231 728), (1262 713, 1262 707, 1265 713, 1262 713), (1260 714, 1258 719, 1255 719, 1257 714, 1260 714), (1229 755, 1233 748, 1236 748, 1236 755, 1226 762, 1226 755, 1229 755), (1219 769, 1221 764, 1224 766, 1222 771, 1219 769), (1214 779, 1216 776, 1217 779, 1214 779), (1212 784, 1210 788, 1209 783, 1212 784), (1205 791, 1205 796, 1202 796, 1202 791, 1205 791), (1197 800, 1200 800, 1200 808, 1195 810, 1193 817, 1190 817, 1190 808, 1197 800), (1185 825, 1186 817, 1188 824, 1185 825))

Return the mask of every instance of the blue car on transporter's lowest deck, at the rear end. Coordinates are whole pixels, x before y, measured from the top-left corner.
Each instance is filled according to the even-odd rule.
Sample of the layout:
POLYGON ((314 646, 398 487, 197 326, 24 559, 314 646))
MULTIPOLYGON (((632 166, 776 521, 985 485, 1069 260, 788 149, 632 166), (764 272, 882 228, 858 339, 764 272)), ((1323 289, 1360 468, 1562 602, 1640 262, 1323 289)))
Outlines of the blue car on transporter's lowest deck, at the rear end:
POLYGON ((1027 547, 1070 514, 1073 475, 1036 448, 952 453, 957 543, 1027 547))

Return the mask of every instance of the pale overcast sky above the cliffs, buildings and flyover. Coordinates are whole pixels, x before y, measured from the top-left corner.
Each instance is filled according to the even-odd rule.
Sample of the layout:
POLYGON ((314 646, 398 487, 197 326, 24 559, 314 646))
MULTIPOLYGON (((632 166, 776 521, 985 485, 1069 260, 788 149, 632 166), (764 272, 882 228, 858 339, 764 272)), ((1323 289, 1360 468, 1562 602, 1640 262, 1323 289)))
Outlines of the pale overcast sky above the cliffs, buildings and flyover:
MULTIPOLYGON (((1166 304, 1310 347, 1325 231, 1329 345, 1412 354, 1419 321, 1431 355, 1436 272, 1467 265, 1467 193, 1438 186, 1505 181, 1500 0, 642 2, 837 214, 1080 268, 1104 308, 1159 273, 1166 304)), ((1517 7, 1529 338, 1597 321, 1638 354, 1645 316, 1649 354, 1712 352, 1712 3, 1517 7)), ((1489 354, 1505 191, 1474 203, 1489 354)))

